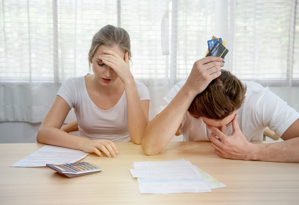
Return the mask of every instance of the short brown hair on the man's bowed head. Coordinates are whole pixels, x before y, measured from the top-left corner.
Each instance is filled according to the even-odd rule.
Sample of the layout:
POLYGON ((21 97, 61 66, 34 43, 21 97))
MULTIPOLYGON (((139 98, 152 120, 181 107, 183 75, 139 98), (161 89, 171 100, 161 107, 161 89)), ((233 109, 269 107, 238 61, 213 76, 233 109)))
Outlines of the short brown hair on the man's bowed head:
POLYGON ((196 95, 188 112, 196 119, 205 117, 222 120, 239 109, 245 99, 246 85, 228 70, 210 82, 208 87, 196 95))

